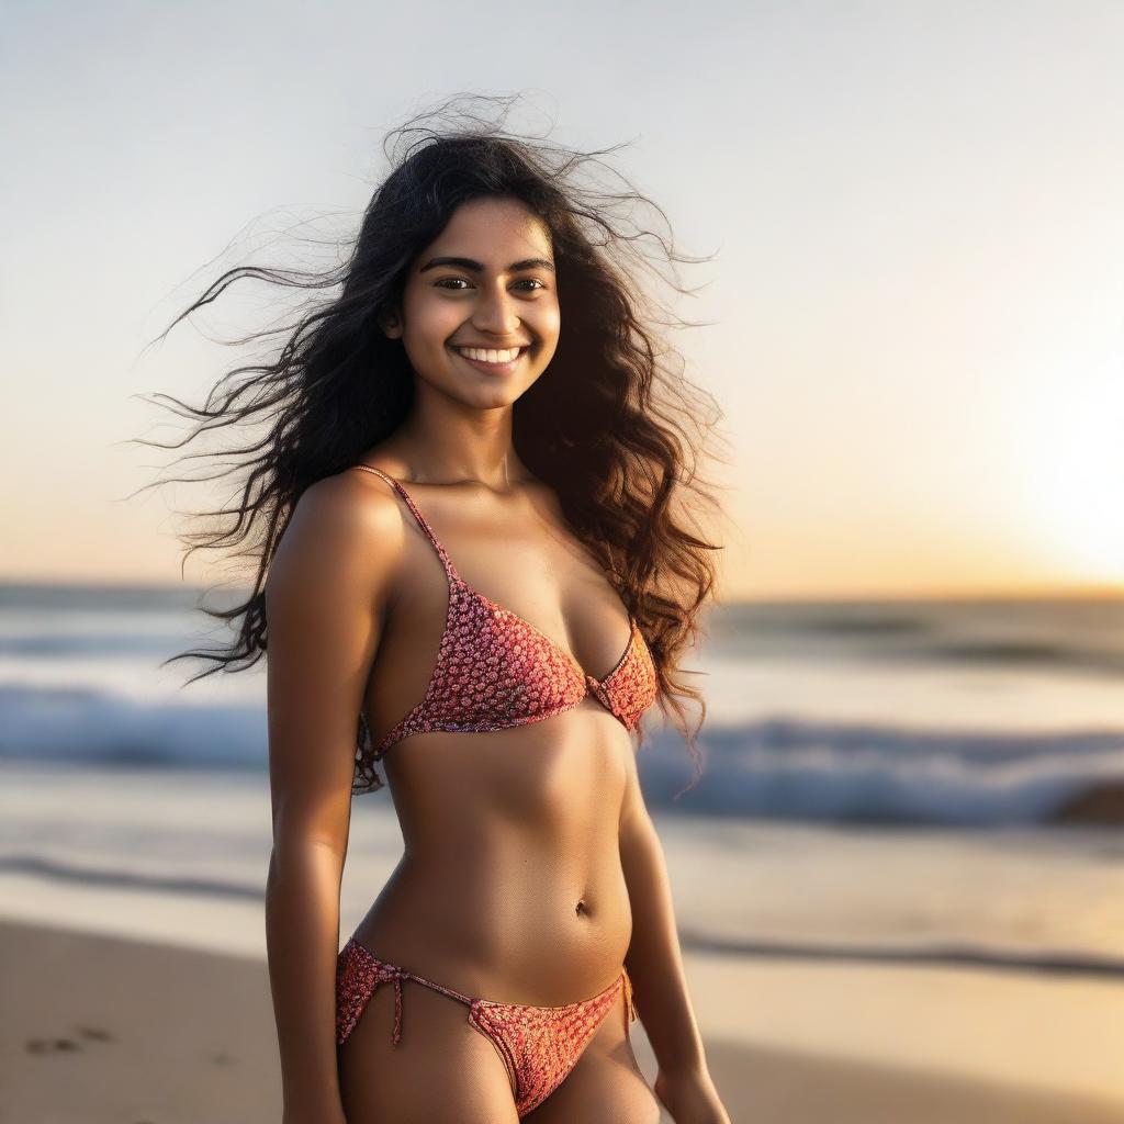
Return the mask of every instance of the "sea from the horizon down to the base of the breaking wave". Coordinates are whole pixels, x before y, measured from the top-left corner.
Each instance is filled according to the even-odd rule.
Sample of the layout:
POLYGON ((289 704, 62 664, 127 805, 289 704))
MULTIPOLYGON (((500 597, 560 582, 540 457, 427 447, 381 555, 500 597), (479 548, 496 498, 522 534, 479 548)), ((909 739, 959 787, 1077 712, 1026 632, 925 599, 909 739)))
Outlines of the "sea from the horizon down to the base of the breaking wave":
MULTIPOLYGON (((201 663, 158 668, 217 643, 199 597, 0 586, 0 763, 261 773, 264 660, 188 687, 201 663)), ((734 605, 707 628, 706 771, 674 799, 686 749, 651 731, 650 804, 986 826, 1124 782, 1124 599, 734 605)))

